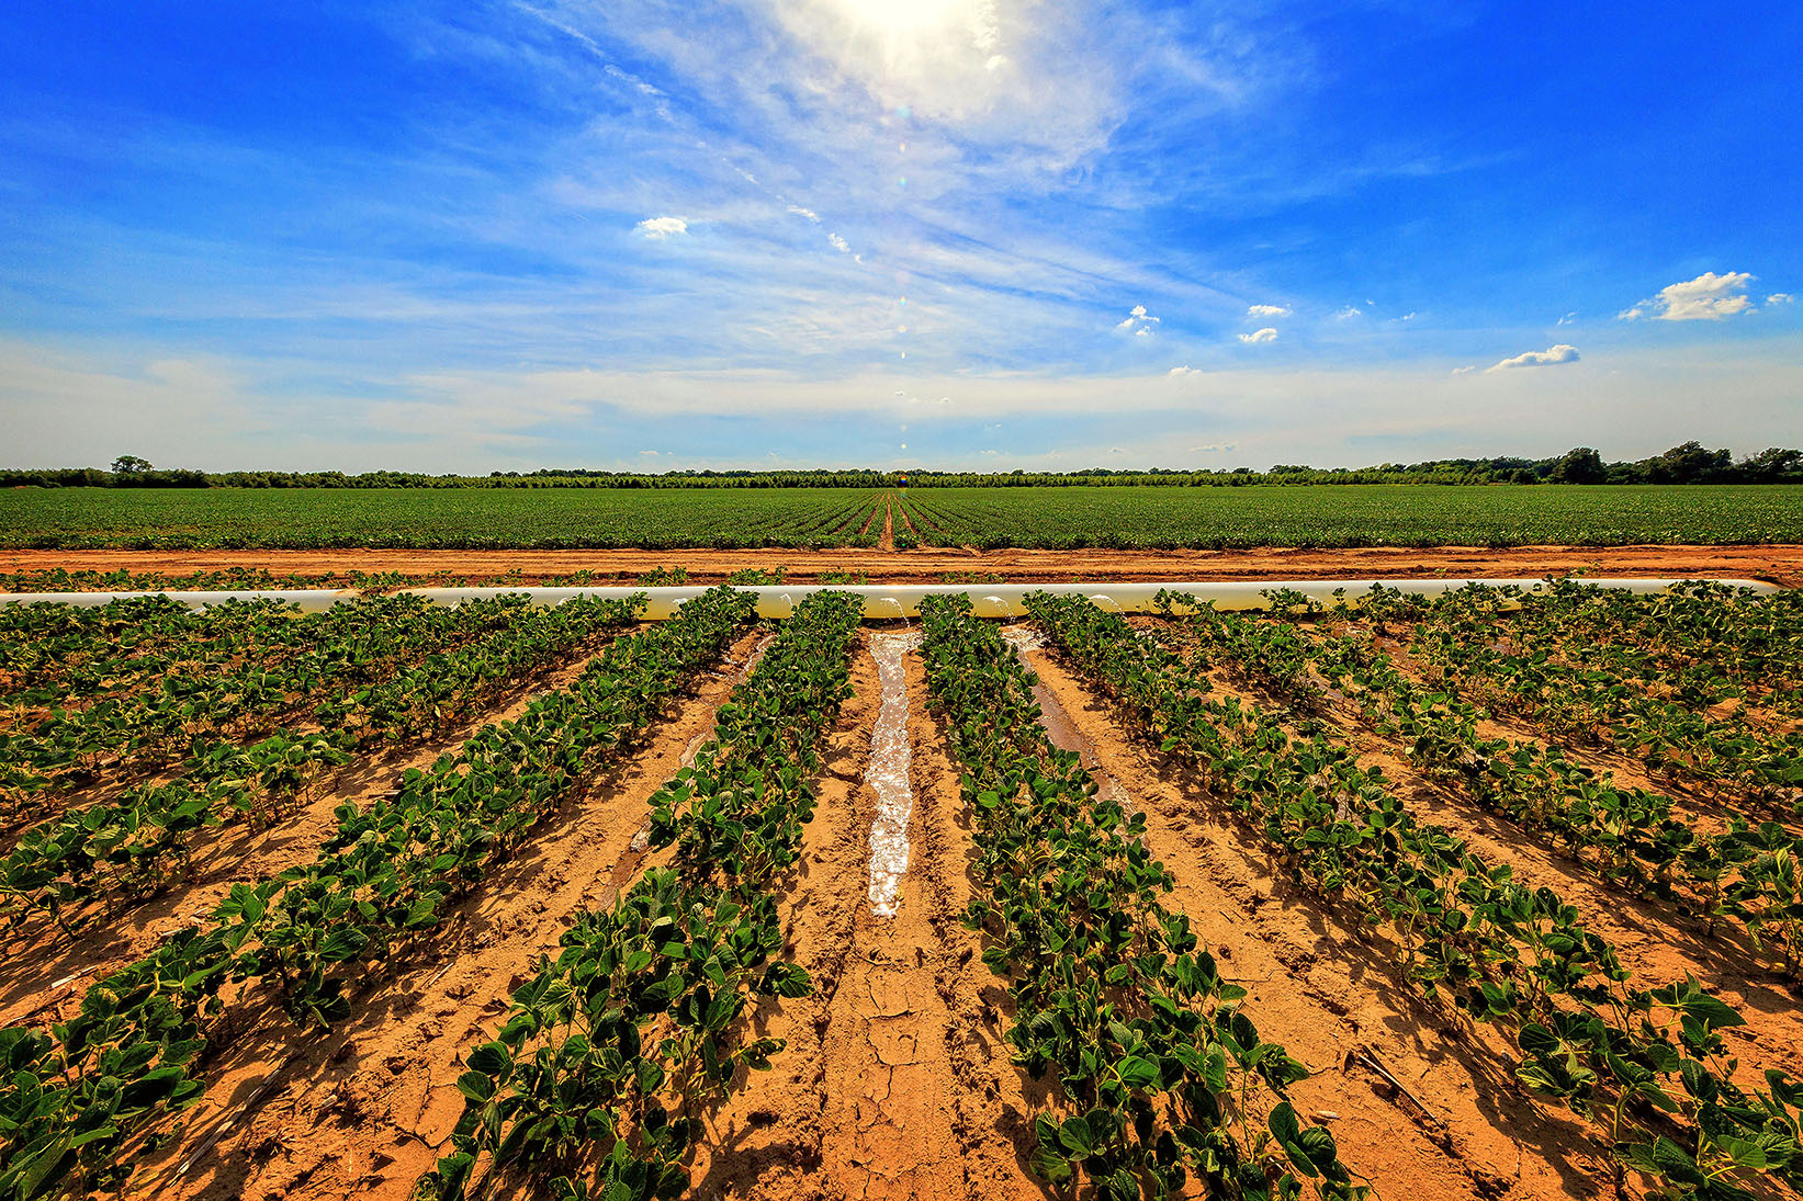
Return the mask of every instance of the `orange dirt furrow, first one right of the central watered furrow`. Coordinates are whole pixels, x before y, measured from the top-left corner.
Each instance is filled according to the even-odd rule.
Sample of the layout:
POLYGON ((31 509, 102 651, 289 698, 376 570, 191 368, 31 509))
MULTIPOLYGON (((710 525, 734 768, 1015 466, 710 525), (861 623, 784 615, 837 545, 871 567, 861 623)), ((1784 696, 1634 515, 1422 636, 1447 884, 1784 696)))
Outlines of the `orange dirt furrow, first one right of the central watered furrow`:
POLYGON ((1291 1095, 1318 1120, 1336 1114, 1325 1122, 1347 1165, 1390 1197, 1525 1201, 1605 1187, 1578 1123, 1524 1096, 1502 1039, 1423 1001, 1394 947, 1359 938, 1275 878, 1251 835, 1181 766, 1132 741, 1109 701, 1055 656, 1035 651, 1026 662, 1147 815, 1147 840, 1176 876, 1168 903, 1190 914, 1222 976, 1248 990, 1246 1015, 1314 1071, 1291 1095))

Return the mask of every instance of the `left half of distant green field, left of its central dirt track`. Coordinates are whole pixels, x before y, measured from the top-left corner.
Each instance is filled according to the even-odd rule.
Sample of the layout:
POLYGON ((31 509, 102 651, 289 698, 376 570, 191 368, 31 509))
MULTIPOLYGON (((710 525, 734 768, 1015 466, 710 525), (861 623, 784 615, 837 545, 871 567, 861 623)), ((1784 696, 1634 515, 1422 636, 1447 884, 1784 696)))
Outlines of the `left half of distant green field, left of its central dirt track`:
POLYGON ((880 496, 864 489, 18 489, 0 492, 0 546, 874 546, 880 496))

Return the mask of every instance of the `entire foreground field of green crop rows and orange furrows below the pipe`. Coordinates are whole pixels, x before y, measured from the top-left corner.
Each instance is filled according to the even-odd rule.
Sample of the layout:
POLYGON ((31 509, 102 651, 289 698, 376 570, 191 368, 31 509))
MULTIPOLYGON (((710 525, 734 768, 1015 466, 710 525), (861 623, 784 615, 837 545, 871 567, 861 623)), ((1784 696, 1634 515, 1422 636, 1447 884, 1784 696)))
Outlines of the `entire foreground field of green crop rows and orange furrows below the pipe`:
POLYGON ((1266 595, 0 608, 0 1196, 1792 1196, 1803 593, 1266 595))

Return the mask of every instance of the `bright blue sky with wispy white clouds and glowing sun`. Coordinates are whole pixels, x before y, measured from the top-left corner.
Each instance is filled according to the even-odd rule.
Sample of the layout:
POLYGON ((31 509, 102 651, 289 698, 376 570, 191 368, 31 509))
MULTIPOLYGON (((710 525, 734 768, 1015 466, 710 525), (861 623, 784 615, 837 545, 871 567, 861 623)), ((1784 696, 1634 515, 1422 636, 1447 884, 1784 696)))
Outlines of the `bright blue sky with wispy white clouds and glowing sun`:
POLYGON ((0 11, 9 465, 1803 442, 1803 5, 0 11))

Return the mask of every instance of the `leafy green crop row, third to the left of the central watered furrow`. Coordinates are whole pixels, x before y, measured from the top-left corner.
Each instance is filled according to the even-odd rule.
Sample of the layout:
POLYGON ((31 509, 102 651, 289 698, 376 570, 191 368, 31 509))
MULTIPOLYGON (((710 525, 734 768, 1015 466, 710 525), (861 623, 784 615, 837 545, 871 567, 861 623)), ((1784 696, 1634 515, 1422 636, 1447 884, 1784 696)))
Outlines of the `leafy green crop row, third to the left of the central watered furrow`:
POLYGON ((47 912, 67 931, 69 912, 90 900, 141 900, 186 873, 202 828, 245 817, 269 826, 326 768, 371 747, 415 745, 451 727, 503 689, 629 624, 642 608, 642 597, 577 597, 535 610, 517 600, 480 602, 516 615, 494 633, 321 701, 314 711, 321 732, 197 745, 177 779, 128 788, 27 830, 0 860, 0 911, 14 921, 47 912))

